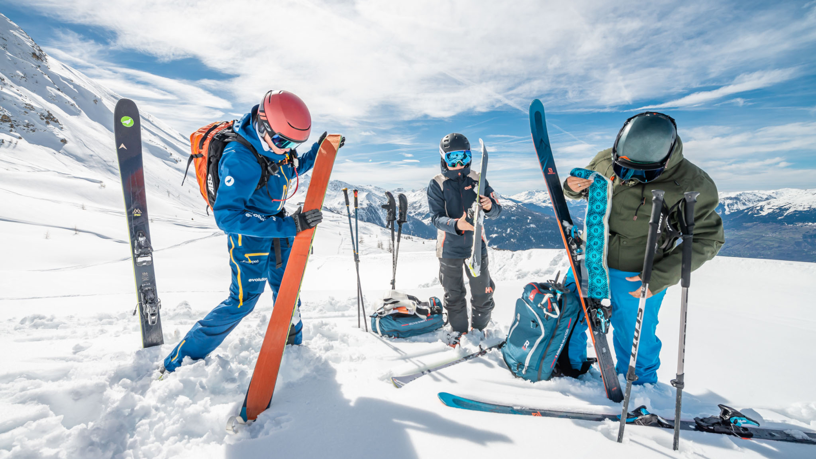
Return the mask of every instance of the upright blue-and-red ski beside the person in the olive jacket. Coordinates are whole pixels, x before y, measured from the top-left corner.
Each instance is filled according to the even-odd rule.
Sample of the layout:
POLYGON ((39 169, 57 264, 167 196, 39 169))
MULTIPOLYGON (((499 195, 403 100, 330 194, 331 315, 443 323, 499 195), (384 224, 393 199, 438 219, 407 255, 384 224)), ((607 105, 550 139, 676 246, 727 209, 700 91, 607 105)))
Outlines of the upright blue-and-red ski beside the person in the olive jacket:
POLYGON ((558 179, 558 171, 552 158, 552 148, 550 148, 550 139, 544 118, 544 106, 541 104, 541 100, 538 99, 533 100, 533 103, 530 104, 530 131, 533 136, 535 152, 539 156, 541 172, 547 184, 547 192, 550 195, 556 219, 560 223, 558 229, 561 230, 561 240, 564 242, 564 247, 570 258, 570 266, 575 277, 575 287, 581 299, 584 318, 587 320, 589 327, 589 336, 592 337, 592 345, 595 347, 595 355, 598 359, 598 368, 601 369, 601 379, 606 390, 606 398, 619 403, 623 400, 623 392, 620 390, 618 373, 615 372, 614 360, 605 334, 606 330, 609 329, 606 325, 609 321, 610 305, 609 303, 601 303, 601 300, 596 298, 589 298, 587 292, 583 292, 581 287, 583 279, 581 278, 579 254, 583 248, 581 247, 583 241, 574 234, 575 229, 572 224, 570 210, 566 207, 564 191, 561 189, 561 180, 558 179))

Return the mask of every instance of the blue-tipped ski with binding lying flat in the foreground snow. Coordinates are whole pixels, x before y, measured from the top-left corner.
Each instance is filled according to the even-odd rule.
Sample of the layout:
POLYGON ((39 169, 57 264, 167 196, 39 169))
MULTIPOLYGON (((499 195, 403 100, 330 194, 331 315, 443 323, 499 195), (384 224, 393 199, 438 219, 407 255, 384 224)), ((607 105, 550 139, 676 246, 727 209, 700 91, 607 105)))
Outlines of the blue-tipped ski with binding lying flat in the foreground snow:
MULTIPOLYGON (((620 415, 596 414, 590 412, 557 411, 539 408, 524 408, 512 405, 502 405, 498 403, 486 403, 472 399, 465 399, 458 395, 440 392, 438 394, 442 403, 452 408, 461 408, 481 412, 498 412, 502 414, 521 414, 524 416, 538 417, 563 417, 576 419, 579 421, 613 421, 618 422, 620 415)), ((816 433, 803 432, 798 428, 791 427, 786 430, 764 429, 756 421, 745 417, 734 408, 719 405, 721 413, 719 416, 695 417, 694 421, 680 421, 681 430, 691 430, 696 432, 709 432, 712 434, 734 435, 742 439, 776 440, 790 443, 816 444, 816 433), (756 426, 754 426, 756 424, 756 426)), ((628 424, 636 426, 660 427, 673 430, 674 421, 663 419, 654 413, 646 410, 645 406, 635 408, 626 417, 628 424)))

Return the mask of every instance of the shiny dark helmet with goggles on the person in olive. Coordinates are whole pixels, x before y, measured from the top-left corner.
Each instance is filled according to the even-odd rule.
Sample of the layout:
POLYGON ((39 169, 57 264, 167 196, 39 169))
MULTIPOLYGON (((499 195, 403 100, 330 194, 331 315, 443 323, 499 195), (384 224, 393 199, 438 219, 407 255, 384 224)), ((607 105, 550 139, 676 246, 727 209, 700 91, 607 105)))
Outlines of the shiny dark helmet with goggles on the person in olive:
POLYGON ((622 180, 647 182, 666 169, 677 143, 677 125, 666 114, 644 112, 623 123, 614 140, 614 172, 622 180))

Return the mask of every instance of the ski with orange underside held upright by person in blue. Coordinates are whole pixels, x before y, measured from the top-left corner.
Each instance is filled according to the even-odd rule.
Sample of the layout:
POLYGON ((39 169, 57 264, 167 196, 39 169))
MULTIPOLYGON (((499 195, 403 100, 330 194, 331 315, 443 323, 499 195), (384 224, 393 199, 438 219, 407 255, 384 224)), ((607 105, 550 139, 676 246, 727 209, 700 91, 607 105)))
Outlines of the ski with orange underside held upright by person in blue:
MULTIPOLYGON (((309 181, 302 212, 323 207, 326 187, 329 185, 329 177, 335 164, 339 145, 340 136, 332 134, 326 136, 320 149, 317 150, 317 158, 314 160, 312 169, 312 180, 309 181)), ((234 433, 238 425, 255 421, 258 415, 272 403, 277 373, 281 368, 281 359, 283 359, 283 350, 286 348, 286 338, 289 336, 292 314, 295 313, 295 305, 300 295, 300 283, 303 282, 316 228, 309 228, 295 235, 295 243, 292 244, 289 261, 283 272, 281 288, 277 292, 272 317, 269 318, 264 343, 260 347, 249 389, 246 390, 241 414, 229 418, 228 432, 234 433)))

